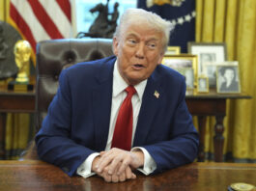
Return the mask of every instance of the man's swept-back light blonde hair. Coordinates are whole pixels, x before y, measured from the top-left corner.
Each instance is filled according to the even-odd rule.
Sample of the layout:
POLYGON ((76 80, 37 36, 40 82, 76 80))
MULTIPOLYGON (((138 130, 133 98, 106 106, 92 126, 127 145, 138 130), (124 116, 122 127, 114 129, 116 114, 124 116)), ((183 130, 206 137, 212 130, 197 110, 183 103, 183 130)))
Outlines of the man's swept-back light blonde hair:
POLYGON ((173 24, 157 14, 142 9, 130 8, 121 16, 120 24, 116 28, 114 38, 119 39, 125 27, 129 24, 140 22, 147 23, 150 27, 163 34, 162 44, 163 51, 165 51, 168 46, 170 32, 174 29, 173 24))

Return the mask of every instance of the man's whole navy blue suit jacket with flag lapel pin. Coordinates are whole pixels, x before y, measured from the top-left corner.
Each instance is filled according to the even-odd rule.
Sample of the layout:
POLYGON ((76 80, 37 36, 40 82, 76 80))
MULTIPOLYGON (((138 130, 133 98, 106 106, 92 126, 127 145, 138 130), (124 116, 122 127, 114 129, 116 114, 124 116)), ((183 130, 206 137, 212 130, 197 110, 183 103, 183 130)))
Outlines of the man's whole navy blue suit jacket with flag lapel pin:
MULTIPOLYGON (((60 75, 36 144, 41 159, 69 176, 91 153, 105 149, 115 61, 112 56, 76 64, 60 75)), ((149 151, 156 161, 154 173, 197 156, 198 136, 185 104, 185 78, 171 68, 160 65, 148 78, 133 147, 149 151)))

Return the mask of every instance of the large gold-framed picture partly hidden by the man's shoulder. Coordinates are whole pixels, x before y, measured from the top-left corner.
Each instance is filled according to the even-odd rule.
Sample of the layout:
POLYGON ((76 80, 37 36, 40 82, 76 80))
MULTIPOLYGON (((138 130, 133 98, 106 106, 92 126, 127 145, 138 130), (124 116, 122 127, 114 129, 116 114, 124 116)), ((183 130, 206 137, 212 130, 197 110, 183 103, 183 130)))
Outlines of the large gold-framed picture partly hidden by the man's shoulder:
POLYGON ((164 56, 162 64, 176 69, 185 76, 186 88, 193 89, 196 85, 194 79, 197 76, 197 56, 190 54, 180 54, 172 56, 164 56))

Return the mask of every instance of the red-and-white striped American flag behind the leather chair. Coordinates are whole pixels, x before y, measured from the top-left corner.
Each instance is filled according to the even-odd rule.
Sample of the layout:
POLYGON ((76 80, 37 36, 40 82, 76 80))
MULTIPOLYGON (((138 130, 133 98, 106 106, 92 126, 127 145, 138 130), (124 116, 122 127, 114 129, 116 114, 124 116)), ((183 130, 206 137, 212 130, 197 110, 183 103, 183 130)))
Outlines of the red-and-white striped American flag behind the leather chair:
MULTIPOLYGON (((70 0, 11 0, 9 22, 30 42, 71 38, 70 0)), ((35 58, 33 58, 35 61, 35 58)))

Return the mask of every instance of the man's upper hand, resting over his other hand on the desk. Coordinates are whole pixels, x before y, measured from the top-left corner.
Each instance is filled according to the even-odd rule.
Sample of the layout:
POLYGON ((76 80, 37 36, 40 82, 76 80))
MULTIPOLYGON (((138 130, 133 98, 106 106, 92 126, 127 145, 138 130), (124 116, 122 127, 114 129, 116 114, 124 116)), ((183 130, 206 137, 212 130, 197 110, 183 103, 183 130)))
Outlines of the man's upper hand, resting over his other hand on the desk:
POLYGON ((144 164, 144 154, 141 150, 127 151, 113 148, 100 152, 99 161, 96 164, 96 173, 107 173, 109 176, 121 176, 127 168, 137 169, 144 164), (106 172, 107 171, 107 172, 106 172))

